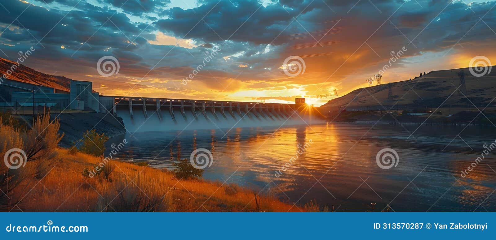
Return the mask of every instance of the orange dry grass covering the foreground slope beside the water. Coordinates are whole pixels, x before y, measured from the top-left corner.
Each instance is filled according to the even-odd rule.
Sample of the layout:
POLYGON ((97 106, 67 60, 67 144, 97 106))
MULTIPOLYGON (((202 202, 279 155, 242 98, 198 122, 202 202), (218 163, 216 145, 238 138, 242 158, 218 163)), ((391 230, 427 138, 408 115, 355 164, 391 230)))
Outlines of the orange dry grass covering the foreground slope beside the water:
MULTIPOLYGON (((103 174, 83 177, 84 169, 92 169, 102 161, 100 157, 79 152, 69 154, 64 148, 57 148, 56 152, 58 160, 54 167, 40 182, 32 179, 13 191, 22 202, 7 210, 249 212, 257 209, 254 193, 239 186, 235 186, 236 192, 231 192, 219 182, 178 180, 166 170, 116 160, 108 163, 115 165, 108 179, 103 174)), ((37 164, 40 163, 28 162, 26 167, 36 168, 37 164)), ((258 196, 257 201, 260 211, 300 211, 268 196, 258 196)))

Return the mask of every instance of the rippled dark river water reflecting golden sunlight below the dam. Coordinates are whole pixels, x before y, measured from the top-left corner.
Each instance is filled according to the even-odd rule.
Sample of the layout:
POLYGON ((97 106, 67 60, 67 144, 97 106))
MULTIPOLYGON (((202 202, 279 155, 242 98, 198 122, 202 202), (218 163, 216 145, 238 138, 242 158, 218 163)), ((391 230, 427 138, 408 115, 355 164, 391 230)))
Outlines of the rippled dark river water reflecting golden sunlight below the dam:
POLYGON ((371 203, 374 211, 386 204, 391 211, 496 211, 496 150, 466 178, 460 176, 481 156, 483 144, 495 141, 496 129, 417 128, 323 124, 147 132, 126 134, 109 145, 125 138, 129 143, 118 157, 168 169, 178 157, 189 159, 194 149, 207 148, 213 163, 205 179, 224 179, 299 206, 315 200, 336 211, 372 211, 371 203), (415 131, 413 137, 407 131, 415 131), (396 167, 378 167, 376 155, 383 148, 396 150, 396 167), (276 171, 292 157, 277 178, 276 171))

